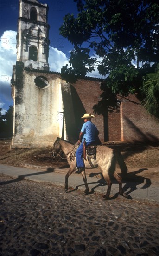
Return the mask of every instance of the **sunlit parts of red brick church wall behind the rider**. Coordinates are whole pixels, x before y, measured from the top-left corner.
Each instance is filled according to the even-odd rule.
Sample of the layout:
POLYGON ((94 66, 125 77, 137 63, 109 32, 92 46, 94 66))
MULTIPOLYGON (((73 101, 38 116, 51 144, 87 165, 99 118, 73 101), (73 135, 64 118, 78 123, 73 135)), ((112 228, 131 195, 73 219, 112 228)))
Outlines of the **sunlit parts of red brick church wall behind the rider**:
MULTIPOLYGON (((100 100, 101 81, 79 80, 74 85, 83 104, 83 113, 93 113, 93 106, 100 100)), ((95 115, 92 120, 100 131, 100 140, 105 141, 158 141, 159 123, 140 104, 135 95, 126 99, 120 98, 121 106, 118 113, 108 113, 108 128, 104 127, 102 115, 95 115), (105 130, 104 130, 105 129, 105 130)))

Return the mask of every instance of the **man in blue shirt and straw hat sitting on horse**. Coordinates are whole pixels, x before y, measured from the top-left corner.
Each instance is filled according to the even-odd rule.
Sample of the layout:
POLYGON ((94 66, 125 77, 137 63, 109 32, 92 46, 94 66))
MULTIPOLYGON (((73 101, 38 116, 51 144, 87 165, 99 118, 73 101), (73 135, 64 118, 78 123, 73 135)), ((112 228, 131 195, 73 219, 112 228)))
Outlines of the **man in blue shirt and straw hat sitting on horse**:
POLYGON ((95 124, 91 122, 91 118, 94 117, 94 115, 88 113, 84 114, 81 117, 82 119, 84 119, 84 124, 79 134, 78 143, 80 144, 80 146, 76 151, 76 166, 78 169, 76 173, 81 173, 85 170, 83 161, 83 144, 86 143, 86 146, 89 146, 97 141, 99 131, 96 128, 95 124))

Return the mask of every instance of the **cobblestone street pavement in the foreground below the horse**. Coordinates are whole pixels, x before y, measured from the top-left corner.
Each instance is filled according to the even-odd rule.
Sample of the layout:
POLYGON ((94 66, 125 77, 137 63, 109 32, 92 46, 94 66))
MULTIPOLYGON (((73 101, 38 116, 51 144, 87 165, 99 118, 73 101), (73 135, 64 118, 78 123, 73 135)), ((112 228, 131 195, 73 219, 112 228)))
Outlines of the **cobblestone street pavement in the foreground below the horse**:
POLYGON ((0 175, 1 256, 159 255, 159 205, 0 175))

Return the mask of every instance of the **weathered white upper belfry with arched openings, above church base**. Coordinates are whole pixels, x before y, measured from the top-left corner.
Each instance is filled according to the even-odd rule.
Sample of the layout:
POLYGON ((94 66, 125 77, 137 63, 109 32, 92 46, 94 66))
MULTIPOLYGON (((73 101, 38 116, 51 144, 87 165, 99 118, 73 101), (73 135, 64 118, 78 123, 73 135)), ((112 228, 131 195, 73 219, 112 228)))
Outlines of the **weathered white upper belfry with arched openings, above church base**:
POLYGON ((37 0, 19 0, 17 61, 24 67, 49 71, 48 5, 37 0))

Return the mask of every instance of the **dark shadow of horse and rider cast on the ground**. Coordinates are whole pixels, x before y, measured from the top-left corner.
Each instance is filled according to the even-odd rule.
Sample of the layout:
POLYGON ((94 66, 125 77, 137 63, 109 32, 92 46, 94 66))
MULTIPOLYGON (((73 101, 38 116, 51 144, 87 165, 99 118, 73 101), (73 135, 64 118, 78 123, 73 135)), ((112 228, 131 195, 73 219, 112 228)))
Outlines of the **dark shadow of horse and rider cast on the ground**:
MULTIPOLYGON (((139 169, 137 171, 127 173, 126 177, 122 177, 122 174, 119 174, 122 177, 122 183, 126 183, 123 186, 123 191, 127 194, 127 199, 132 199, 130 194, 133 193, 133 191, 138 189, 137 188, 138 185, 144 183, 144 185, 140 189, 146 189, 146 188, 150 187, 151 180, 149 178, 145 178, 143 176, 137 175, 137 174, 141 173, 144 170, 148 170, 148 169, 147 168, 141 168, 141 169, 139 169)), ((92 178, 96 177, 98 179, 98 181, 97 182, 89 182, 88 183, 88 185, 95 184, 95 186, 93 188, 91 188, 91 190, 87 193, 87 195, 95 193, 95 189, 96 188, 104 187, 104 186, 107 185, 107 182, 104 180, 101 172, 90 173, 89 177, 92 177, 92 178)), ((118 182, 116 181, 116 179, 114 179, 114 177, 111 177, 111 180, 112 180, 113 184, 118 184, 118 182)), ((67 191, 67 193, 76 191, 81 186, 83 186, 83 184, 80 184, 80 185, 76 186, 75 189, 67 191)), ((117 192, 113 196, 111 196, 109 198, 109 200, 115 199, 118 196, 119 196, 119 192, 117 192)))

